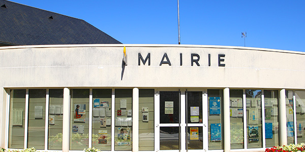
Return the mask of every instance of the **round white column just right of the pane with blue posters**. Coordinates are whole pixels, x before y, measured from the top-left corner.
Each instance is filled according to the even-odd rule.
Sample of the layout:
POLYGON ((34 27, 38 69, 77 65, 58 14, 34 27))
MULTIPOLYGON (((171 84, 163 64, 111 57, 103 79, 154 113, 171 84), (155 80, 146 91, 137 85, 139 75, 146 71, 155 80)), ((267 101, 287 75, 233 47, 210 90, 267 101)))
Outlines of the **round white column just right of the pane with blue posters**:
POLYGON ((224 151, 230 151, 230 89, 224 89, 224 151))

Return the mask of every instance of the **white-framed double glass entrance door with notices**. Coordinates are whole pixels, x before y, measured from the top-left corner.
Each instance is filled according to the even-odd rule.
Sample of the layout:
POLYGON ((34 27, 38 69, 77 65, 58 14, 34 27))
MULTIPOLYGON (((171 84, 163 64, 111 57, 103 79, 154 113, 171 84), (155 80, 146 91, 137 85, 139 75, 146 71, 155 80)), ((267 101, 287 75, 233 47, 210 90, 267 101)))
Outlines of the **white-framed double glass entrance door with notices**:
POLYGON ((186 151, 204 149, 203 91, 159 91, 159 121, 156 132, 158 150, 186 151))

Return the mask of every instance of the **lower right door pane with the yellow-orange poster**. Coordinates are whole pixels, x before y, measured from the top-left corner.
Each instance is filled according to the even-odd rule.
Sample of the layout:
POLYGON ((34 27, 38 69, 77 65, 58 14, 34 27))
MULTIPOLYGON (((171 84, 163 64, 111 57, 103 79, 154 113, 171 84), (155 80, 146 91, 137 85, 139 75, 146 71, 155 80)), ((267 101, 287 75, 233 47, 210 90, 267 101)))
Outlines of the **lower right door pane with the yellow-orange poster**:
POLYGON ((188 149, 203 149, 202 127, 188 127, 188 149))

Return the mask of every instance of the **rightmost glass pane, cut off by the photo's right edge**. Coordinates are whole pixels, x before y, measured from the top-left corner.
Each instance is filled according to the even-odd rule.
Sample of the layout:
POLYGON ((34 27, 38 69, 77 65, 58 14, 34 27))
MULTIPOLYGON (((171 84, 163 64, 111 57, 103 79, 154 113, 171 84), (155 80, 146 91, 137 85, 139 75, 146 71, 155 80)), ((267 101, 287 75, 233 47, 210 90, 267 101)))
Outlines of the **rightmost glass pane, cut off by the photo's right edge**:
POLYGON ((297 143, 304 143, 305 91, 295 91, 295 108, 297 143))

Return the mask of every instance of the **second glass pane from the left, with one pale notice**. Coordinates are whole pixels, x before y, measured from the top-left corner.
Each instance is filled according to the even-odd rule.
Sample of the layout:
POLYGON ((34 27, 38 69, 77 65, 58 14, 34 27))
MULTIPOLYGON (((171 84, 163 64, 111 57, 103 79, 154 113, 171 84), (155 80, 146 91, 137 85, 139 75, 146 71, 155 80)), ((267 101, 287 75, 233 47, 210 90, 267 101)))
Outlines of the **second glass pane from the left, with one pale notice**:
POLYGON ((45 148, 46 89, 28 90, 27 147, 45 148))

